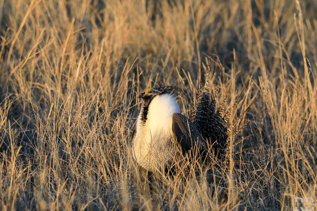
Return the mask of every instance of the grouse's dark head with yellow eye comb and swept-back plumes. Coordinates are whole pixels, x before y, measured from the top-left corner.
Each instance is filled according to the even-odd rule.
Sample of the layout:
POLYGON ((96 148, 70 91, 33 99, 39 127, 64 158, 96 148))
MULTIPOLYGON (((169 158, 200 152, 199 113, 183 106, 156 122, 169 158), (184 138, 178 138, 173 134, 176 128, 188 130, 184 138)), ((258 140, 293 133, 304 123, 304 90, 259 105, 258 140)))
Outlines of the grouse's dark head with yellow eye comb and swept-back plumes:
POLYGON ((183 90, 179 89, 176 86, 158 86, 156 88, 150 87, 140 91, 138 98, 142 98, 143 101, 149 102, 155 96, 162 94, 170 94, 172 96, 184 96, 183 90))

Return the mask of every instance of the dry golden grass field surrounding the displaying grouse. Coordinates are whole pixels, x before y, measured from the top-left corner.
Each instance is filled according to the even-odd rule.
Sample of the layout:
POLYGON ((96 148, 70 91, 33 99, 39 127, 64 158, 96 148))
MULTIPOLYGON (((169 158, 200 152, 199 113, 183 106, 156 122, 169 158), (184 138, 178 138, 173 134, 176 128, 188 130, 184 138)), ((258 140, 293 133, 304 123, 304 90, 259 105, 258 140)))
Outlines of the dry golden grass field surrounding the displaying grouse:
POLYGON ((292 210, 295 196, 317 201, 316 10, 314 0, 0 0, 0 209, 292 210), (136 94, 158 84, 191 97, 209 52, 224 67, 213 55, 211 88, 220 71, 220 99, 232 85, 226 108, 251 78, 235 116, 261 95, 238 124, 259 114, 239 135, 261 130, 243 144, 260 148, 238 154, 252 164, 236 170, 163 176, 149 196, 129 150, 136 94))

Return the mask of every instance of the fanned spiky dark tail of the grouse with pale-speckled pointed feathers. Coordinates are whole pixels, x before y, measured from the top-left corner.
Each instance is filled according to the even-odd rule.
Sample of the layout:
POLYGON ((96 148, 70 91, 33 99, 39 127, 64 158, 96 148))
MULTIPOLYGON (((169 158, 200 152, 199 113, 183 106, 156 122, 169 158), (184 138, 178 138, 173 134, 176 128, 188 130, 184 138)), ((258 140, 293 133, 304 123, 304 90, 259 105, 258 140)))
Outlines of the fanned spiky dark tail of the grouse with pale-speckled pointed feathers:
MULTIPOLYGON (((252 120, 247 121, 243 126, 239 127, 236 129, 234 132, 230 134, 232 129, 236 126, 236 124, 239 122, 239 120, 243 117, 243 115, 246 113, 246 111, 250 108, 250 106, 253 104, 253 102, 248 106, 248 108, 241 113, 233 122, 229 123, 227 125, 227 121, 232 115, 232 110, 236 106, 238 100, 240 99, 243 91, 245 90, 247 83, 244 87, 237 99, 235 100, 234 104, 230 107, 230 109, 223 115, 224 107, 225 104, 228 100, 230 88, 226 92, 226 95, 220 104, 220 106, 216 107, 216 101, 218 97, 218 92, 220 88, 220 83, 221 83, 221 72, 220 76, 218 78, 218 83, 216 90, 213 94, 213 97, 210 99, 209 95, 209 81, 210 81, 210 63, 211 63, 211 58, 209 58, 208 62, 208 68, 206 72, 206 81, 204 84, 204 91, 202 90, 202 83, 200 81, 199 87, 198 87, 198 94, 196 97, 196 104, 194 105, 194 99, 192 99, 192 109, 191 109, 191 121, 193 121, 194 125, 201 131, 202 136, 204 140, 208 142, 210 146, 212 146, 214 153, 217 154, 217 157, 223 160, 224 163, 225 161, 228 160, 226 159, 229 155, 230 152, 227 150, 230 148, 230 144, 228 143, 229 140, 233 140, 233 138, 243 130, 244 127, 246 127, 252 120), (223 117, 222 117, 223 115, 223 117), (229 136, 230 134, 230 136, 229 136)), ((257 98, 256 98, 257 99, 257 98)), ((250 138, 254 134, 248 135, 246 137, 243 137, 241 140, 238 140, 236 142, 232 143, 232 146, 236 146, 240 143, 242 143, 244 140, 250 138)), ((236 154, 239 152, 245 152, 251 149, 254 149, 255 147, 250 147, 247 149, 242 149, 238 151, 233 151, 231 153, 236 154)), ((236 162, 235 160, 233 161, 234 163, 249 163, 246 161, 239 161, 236 162)))

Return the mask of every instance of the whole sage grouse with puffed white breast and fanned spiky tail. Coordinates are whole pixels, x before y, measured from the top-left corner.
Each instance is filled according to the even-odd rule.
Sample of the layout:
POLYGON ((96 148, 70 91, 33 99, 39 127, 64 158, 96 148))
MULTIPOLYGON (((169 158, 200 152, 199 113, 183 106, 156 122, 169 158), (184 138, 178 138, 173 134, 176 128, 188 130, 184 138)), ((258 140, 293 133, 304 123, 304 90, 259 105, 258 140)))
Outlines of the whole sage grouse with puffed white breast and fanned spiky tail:
MULTIPOLYGON (((179 113, 180 110, 176 98, 183 93, 179 88, 175 86, 159 86, 147 88, 139 93, 138 98, 142 98, 143 105, 133 133, 132 154, 137 163, 145 170, 156 171, 161 169, 162 166, 164 167, 166 164, 171 163, 177 149, 176 143, 182 149, 183 154, 195 147, 201 155, 206 156, 208 153, 210 154, 210 149, 212 149, 215 157, 224 162, 228 161, 225 157, 230 147, 230 144, 228 144, 228 140, 231 138, 229 134, 234 137, 251 120, 230 133, 230 128, 235 127, 246 112, 244 111, 231 124, 226 124, 242 92, 230 109, 223 115, 230 88, 219 108, 216 108, 221 76, 219 76, 215 93, 210 99, 209 74, 210 62, 204 90, 202 90, 200 83, 196 105, 194 104, 194 99, 192 100, 190 119, 179 113)), ((249 137, 243 137, 241 140, 233 142, 232 146, 241 143, 249 137)), ((242 151, 237 150, 233 154, 249 149, 252 148, 242 151)))

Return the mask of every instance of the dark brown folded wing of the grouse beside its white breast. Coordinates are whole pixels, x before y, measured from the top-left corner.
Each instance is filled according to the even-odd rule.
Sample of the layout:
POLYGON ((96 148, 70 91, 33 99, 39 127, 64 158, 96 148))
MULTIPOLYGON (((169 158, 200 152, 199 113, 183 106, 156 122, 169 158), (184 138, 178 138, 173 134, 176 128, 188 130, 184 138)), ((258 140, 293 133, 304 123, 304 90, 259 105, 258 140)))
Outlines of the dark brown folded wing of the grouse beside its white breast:
POLYGON ((183 154, 194 146, 199 147, 201 150, 206 148, 201 133, 186 116, 178 113, 173 114, 172 131, 176 141, 182 148, 183 154))

